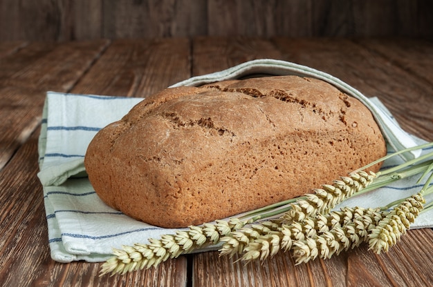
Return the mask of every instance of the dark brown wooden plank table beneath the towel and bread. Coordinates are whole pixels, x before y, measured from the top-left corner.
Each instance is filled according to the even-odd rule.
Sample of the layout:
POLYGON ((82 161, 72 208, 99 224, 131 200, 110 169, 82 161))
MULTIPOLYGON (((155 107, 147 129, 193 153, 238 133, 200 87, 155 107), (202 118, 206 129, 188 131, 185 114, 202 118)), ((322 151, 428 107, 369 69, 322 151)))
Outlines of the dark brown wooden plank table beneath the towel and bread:
POLYGON ((273 58, 311 66, 379 97, 400 125, 433 141, 433 43, 416 39, 125 39, 0 43, 1 286, 429 286, 433 230, 389 253, 366 245, 294 266, 280 253, 243 266, 208 252, 98 277, 101 264, 50 259, 37 138, 46 91, 146 97, 194 75, 273 58))

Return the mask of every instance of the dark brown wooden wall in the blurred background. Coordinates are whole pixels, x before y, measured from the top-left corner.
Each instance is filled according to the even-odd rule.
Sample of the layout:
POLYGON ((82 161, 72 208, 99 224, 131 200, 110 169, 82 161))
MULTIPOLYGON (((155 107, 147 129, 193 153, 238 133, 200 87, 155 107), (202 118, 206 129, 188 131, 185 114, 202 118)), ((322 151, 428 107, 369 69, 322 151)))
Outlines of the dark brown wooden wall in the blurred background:
POLYGON ((433 39, 431 0, 0 0, 0 41, 201 35, 433 39))

